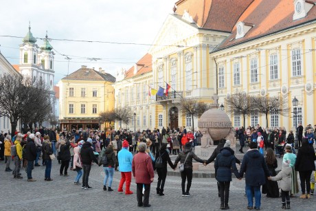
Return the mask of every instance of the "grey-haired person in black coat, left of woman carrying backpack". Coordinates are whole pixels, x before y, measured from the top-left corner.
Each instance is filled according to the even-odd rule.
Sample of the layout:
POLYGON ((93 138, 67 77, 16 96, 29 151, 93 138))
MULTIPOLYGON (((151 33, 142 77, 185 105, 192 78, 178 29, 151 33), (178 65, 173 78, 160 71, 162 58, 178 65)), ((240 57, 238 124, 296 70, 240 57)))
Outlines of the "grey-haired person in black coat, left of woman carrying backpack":
POLYGON ((91 187, 89 186, 89 175, 90 175, 92 161, 94 161, 95 164, 99 164, 98 159, 95 157, 91 146, 92 146, 92 140, 91 138, 88 138, 87 142, 82 144, 82 148, 80 151, 82 169, 83 169, 81 188, 84 190, 91 189, 91 187))

